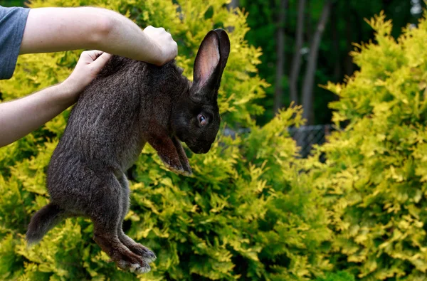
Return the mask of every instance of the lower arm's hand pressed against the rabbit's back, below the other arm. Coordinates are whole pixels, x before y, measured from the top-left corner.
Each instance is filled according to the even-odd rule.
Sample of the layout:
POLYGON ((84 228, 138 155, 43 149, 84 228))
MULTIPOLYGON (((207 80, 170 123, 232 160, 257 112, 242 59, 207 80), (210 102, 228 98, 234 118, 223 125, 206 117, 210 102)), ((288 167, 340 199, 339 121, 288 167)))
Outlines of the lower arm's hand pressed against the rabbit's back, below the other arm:
POLYGON ((102 51, 84 51, 78 59, 77 65, 61 85, 66 88, 66 102, 75 102, 83 90, 96 78, 105 63, 110 60, 111 55, 102 51))

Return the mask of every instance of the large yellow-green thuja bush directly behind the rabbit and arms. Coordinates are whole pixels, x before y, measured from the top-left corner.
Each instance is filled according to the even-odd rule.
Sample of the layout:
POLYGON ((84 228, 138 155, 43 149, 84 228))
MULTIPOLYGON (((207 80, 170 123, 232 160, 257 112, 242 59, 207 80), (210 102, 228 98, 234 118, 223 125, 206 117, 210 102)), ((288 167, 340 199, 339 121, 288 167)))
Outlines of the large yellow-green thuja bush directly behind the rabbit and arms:
MULTIPOLYGON (((199 43, 213 28, 226 28, 231 54, 219 90, 223 127, 208 154, 191 154, 194 177, 173 174, 145 147, 131 179, 125 232, 157 254, 152 272, 123 272, 93 242, 93 225, 68 218, 40 244, 27 248, 31 215, 48 203, 46 167, 69 112, 0 149, 1 280, 311 280, 332 265, 331 231, 310 176, 298 176, 297 147, 287 127, 302 123, 300 107, 280 112, 264 127, 251 117, 268 85, 257 75, 260 50, 248 46, 246 14, 216 1, 61 1, 39 6, 103 6, 140 26, 164 26, 179 43, 176 62, 192 76, 199 43), (231 128, 251 133, 227 137, 231 128)), ((0 83, 4 101, 63 80, 79 52, 23 55, 14 78, 0 83)))

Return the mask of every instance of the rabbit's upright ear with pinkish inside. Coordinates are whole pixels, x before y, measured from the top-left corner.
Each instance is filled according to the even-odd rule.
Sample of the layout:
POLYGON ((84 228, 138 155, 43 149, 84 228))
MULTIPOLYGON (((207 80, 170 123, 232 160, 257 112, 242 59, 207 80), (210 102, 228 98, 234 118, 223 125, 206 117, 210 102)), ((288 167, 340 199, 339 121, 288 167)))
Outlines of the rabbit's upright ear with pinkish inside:
POLYGON ((216 99, 229 53, 230 40, 226 31, 216 29, 206 34, 194 60, 194 81, 191 87, 194 100, 216 99))

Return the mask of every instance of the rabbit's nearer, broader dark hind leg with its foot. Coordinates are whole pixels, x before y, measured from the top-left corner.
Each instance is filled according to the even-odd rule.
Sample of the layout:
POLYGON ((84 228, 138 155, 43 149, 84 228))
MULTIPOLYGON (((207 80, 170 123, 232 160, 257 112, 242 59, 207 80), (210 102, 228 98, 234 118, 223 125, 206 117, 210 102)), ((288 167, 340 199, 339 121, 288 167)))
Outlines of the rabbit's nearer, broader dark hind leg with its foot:
POLYGON ((117 228, 122 223, 122 186, 115 176, 105 176, 94 186, 90 218, 94 226, 94 240, 122 270, 149 272, 148 263, 120 241, 117 228))

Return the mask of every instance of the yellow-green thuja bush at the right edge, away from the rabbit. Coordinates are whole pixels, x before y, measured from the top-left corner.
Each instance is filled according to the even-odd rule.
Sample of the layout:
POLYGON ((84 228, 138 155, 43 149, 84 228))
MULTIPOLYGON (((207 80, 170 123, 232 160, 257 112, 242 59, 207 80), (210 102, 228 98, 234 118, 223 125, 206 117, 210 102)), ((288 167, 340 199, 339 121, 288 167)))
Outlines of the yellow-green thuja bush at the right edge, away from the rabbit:
MULTIPOLYGON (((426 16, 426 14, 424 15, 426 16)), ((380 14, 376 43, 357 46, 360 70, 327 85, 346 122, 307 162, 330 208, 338 269, 362 280, 427 280, 427 21, 396 41, 380 14)))

